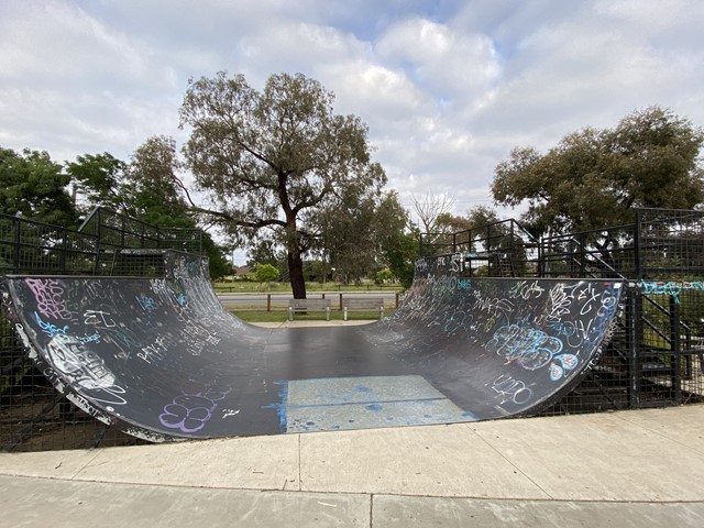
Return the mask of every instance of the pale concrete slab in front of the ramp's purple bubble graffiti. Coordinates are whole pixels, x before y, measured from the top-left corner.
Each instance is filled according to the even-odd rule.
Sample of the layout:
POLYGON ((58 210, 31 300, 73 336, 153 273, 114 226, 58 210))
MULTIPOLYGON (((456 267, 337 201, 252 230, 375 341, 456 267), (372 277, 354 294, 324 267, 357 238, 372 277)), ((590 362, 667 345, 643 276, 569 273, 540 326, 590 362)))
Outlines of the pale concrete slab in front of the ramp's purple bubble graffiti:
POLYGON ((101 450, 76 480, 298 490, 298 439, 251 437, 101 450))

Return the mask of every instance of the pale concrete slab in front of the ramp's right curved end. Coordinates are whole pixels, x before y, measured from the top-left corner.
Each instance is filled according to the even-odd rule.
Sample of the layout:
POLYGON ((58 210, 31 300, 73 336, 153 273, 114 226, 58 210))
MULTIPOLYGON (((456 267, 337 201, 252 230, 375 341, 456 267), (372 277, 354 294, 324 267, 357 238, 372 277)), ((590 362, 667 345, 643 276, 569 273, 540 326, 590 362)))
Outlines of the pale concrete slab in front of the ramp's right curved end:
POLYGON ((554 499, 704 499, 701 453, 614 414, 464 427, 554 499))

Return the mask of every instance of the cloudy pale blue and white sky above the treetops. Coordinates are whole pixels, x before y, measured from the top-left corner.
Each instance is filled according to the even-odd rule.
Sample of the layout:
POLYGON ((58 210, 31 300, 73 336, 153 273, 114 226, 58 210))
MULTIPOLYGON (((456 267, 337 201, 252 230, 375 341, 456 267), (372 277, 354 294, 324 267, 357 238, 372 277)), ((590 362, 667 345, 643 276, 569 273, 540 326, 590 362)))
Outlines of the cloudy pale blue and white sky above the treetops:
POLYGON ((703 28, 701 0, 0 0, 0 146, 127 161, 183 143, 190 77, 302 73, 366 122, 407 208, 462 215, 514 146, 652 105, 704 125, 703 28))

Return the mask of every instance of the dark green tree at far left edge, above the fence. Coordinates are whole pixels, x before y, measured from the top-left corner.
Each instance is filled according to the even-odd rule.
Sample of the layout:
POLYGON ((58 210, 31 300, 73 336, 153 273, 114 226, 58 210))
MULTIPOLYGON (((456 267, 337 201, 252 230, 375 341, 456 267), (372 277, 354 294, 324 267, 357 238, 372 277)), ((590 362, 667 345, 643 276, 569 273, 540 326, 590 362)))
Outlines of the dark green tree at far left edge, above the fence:
POLYGON ((70 177, 48 153, 0 147, 0 212, 62 227, 76 227, 70 177))

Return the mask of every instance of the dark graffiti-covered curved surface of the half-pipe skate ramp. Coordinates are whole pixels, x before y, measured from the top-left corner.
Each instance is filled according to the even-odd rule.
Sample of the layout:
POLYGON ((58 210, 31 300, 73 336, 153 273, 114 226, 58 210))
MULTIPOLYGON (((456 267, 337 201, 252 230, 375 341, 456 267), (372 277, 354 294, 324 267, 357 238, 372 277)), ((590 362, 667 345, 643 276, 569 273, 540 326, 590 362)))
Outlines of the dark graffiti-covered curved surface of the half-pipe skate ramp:
POLYGON ((402 307, 361 327, 262 329, 227 312, 199 257, 165 278, 9 276, 30 356, 78 407, 153 441, 535 414, 597 361, 624 285, 468 279, 424 258, 402 307))

